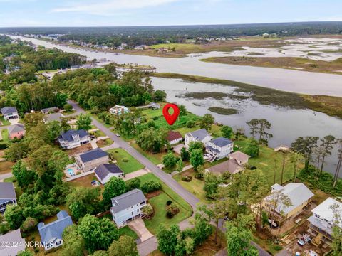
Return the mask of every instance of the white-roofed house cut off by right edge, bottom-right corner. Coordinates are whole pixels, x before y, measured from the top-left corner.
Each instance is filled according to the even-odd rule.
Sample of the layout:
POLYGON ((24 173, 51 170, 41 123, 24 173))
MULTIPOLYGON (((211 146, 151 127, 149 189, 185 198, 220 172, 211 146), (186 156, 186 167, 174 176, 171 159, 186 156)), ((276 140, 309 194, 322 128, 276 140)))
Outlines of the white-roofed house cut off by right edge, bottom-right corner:
MULTIPOLYGON (((323 203, 311 210, 312 215, 308 218, 308 233, 313 236, 312 243, 318 246, 322 242, 330 245, 333 242, 333 226, 337 225, 334 220, 333 207, 342 216, 342 203, 333 198, 327 198, 323 203)), ((342 228, 342 223, 339 223, 342 228)))

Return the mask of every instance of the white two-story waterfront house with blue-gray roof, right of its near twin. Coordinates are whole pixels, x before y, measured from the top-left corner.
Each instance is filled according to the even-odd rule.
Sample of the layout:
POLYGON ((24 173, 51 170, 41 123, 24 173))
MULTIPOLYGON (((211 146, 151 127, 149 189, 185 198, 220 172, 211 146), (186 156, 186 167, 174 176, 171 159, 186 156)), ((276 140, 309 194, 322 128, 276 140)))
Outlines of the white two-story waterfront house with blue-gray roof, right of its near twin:
POLYGON ((210 140, 205 146, 205 151, 212 155, 209 161, 223 159, 232 153, 234 143, 230 139, 219 137, 210 140))

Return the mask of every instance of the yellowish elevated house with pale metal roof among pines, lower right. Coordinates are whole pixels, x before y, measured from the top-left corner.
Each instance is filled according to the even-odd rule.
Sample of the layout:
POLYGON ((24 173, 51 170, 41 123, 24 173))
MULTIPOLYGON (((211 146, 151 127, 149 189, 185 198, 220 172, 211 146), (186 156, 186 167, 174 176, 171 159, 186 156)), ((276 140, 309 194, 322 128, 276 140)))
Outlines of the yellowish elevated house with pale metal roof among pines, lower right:
POLYGON ((266 196, 262 208, 269 214, 269 218, 281 225, 287 220, 296 218, 310 203, 314 193, 304 183, 288 183, 286 186, 274 184, 271 186, 271 195, 266 196), (288 198, 290 205, 281 200, 288 198))

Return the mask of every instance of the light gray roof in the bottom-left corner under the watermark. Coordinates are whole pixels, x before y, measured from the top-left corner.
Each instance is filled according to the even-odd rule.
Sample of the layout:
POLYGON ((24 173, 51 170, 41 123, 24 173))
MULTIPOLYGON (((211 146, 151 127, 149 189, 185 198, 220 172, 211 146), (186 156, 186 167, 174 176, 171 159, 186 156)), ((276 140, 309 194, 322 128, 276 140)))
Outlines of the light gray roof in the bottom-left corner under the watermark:
POLYGON ((16 256, 25 250, 25 239, 21 237, 20 228, 0 235, 0 255, 16 256), (15 246, 1 246, 3 243, 11 242, 15 246))

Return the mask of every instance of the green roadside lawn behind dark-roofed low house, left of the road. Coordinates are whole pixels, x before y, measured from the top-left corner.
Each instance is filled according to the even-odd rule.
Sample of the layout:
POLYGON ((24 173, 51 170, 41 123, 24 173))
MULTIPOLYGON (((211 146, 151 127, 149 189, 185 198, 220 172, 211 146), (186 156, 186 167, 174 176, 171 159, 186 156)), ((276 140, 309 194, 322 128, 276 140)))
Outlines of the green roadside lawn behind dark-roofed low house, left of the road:
POLYGON ((128 154, 125 149, 110 149, 108 150, 108 153, 114 156, 114 159, 117 161, 116 164, 118 164, 125 174, 144 168, 144 166, 135 160, 133 156, 128 154), (128 159, 128 161, 123 161, 123 159, 128 159))

